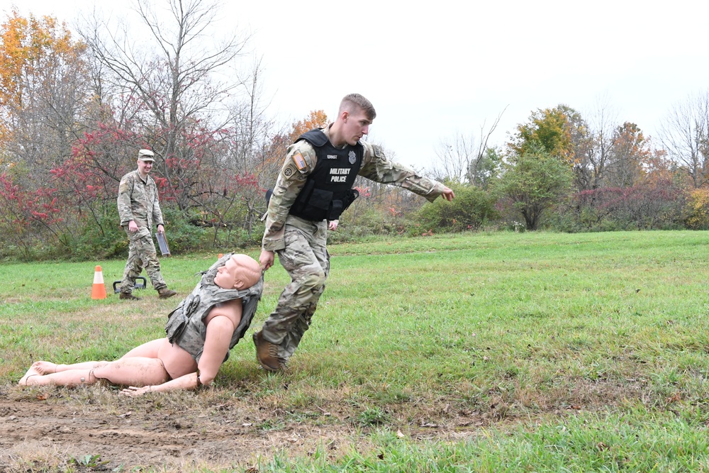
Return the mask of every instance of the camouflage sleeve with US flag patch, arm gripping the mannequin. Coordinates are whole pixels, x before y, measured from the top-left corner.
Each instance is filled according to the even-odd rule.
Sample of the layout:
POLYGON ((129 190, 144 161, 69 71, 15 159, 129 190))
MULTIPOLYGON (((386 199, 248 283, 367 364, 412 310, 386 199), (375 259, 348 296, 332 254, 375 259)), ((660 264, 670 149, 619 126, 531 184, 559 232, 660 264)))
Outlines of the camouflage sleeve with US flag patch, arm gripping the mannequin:
POLYGON ((281 167, 281 173, 269 201, 266 230, 262 241, 264 250, 275 251, 286 247, 284 241, 286 217, 317 162, 315 150, 307 141, 301 140, 289 146, 286 160, 281 167))

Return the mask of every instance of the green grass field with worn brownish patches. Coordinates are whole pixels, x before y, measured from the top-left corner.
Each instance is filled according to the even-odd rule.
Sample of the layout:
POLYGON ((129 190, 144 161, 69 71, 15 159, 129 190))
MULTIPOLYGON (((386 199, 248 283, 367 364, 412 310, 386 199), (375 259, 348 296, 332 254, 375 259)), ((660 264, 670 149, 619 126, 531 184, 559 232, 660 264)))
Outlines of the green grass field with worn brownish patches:
MULTIPOLYGON (((708 233, 689 231, 331 246, 291 372, 256 369, 247 339, 210 394, 190 395, 238 393, 288 413, 269 428, 345 418, 360 445, 334 460, 281 452, 261 472, 707 471, 708 249, 708 233), (342 416, 313 416, 314 405, 342 416), (467 435, 420 434, 432 425, 467 435)), ((215 259, 164 258, 163 274, 184 296, 215 259)), ((177 301, 148 289, 122 303, 111 283, 124 262, 99 264, 101 301, 90 298, 96 262, 0 266, 4 389, 35 359, 111 360, 164 336, 177 301)), ((288 277, 277 263, 265 279, 252 330, 288 277)))

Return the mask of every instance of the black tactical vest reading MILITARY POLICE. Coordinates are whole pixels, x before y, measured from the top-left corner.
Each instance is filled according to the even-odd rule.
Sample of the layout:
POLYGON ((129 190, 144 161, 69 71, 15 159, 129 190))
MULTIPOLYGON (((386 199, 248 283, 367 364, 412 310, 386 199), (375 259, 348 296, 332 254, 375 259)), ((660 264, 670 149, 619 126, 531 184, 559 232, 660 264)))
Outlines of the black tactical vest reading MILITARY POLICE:
POLYGON ((308 175, 290 213, 309 221, 337 220, 357 198, 358 193, 352 191, 352 185, 362 166, 364 146, 357 143, 337 149, 321 128, 303 133, 296 143, 300 140, 313 145, 318 164, 308 175))

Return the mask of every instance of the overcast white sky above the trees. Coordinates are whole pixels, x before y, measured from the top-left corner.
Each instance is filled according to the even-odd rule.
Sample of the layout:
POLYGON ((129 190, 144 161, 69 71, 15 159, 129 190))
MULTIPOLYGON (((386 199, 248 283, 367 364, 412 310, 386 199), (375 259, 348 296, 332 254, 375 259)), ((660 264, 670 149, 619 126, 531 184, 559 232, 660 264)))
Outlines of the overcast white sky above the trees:
MULTIPOLYGON (((113 16, 130 6, 0 0, 0 10, 18 3, 69 26, 94 4, 113 16)), ((334 118, 359 92, 377 111, 369 140, 419 168, 441 140, 479 135, 503 110, 493 145, 537 108, 566 104, 590 120, 602 101, 618 124, 656 136, 672 106, 709 89, 705 1, 228 0, 220 16, 225 32, 252 32, 279 121, 334 118)))

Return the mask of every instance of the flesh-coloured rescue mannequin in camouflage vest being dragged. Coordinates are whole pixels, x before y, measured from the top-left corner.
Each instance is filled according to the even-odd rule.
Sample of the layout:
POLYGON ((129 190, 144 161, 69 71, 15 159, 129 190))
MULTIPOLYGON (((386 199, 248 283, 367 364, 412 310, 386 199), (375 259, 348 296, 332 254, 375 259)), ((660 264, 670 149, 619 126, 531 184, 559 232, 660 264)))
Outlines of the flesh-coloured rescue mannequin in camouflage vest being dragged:
POLYGON ((194 291, 170 313, 167 337, 111 362, 34 362, 19 384, 78 386, 105 379, 128 386, 121 391, 128 396, 208 385, 249 327, 262 291, 256 260, 225 255, 203 272, 194 291))

